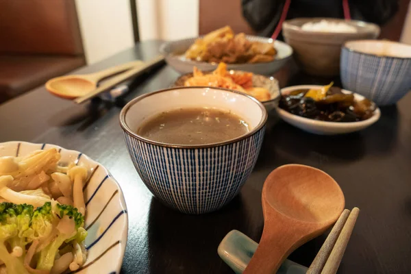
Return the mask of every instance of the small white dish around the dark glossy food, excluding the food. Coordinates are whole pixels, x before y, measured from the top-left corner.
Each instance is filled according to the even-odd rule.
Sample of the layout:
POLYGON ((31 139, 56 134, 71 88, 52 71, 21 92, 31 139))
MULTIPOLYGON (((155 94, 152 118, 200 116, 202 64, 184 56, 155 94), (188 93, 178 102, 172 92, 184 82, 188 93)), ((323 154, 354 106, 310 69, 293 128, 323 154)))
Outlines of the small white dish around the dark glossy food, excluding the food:
MULTIPOLYGON (((292 90, 301 90, 306 88, 322 88, 323 86, 315 86, 315 85, 302 85, 302 86, 290 86, 288 88, 283 88, 281 90, 283 95, 287 95, 292 90)), ((357 93, 348 91, 348 90, 341 90, 344 93, 353 93, 354 98, 356 100, 362 100, 364 97, 362 95, 358 95, 357 93)), ((374 111, 373 116, 371 118, 366 119, 364 121, 359 122, 351 122, 351 123, 338 123, 338 122, 327 122, 327 121, 316 121, 313 119, 304 118, 295 114, 291 114, 282 108, 277 107, 278 115, 290 125, 294 125, 299 129, 303 129, 306 132, 310 132, 313 134, 320 134, 320 135, 336 135, 336 134, 347 134, 351 132, 358 132, 361 129, 369 127, 373 125, 373 123, 377 122, 379 116, 381 116, 381 112, 379 108, 374 111)))

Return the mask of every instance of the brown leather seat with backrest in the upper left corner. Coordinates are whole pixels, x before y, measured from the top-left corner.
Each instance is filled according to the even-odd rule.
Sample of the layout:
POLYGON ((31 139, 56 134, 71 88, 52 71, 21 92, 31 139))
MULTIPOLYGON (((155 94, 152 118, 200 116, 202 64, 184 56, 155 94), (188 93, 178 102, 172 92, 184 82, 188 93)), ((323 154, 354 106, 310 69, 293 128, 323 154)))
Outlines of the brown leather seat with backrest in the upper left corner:
POLYGON ((74 0, 1 0, 0 10, 0 103, 86 63, 74 0))

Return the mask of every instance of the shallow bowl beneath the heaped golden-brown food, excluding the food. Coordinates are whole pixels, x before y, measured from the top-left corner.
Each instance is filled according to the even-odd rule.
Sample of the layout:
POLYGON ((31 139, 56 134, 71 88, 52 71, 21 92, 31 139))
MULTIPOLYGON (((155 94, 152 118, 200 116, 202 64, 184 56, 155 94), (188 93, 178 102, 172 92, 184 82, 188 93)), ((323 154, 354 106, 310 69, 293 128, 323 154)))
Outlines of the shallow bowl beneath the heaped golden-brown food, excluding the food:
MULTIPOLYGON (((177 41, 165 42, 160 47, 160 52, 165 56, 167 64, 173 67, 175 71, 186 74, 192 73, 192 68, 197 66, 200 71, 214 71, 218 64, 208 62, 198 62, 188 60, 184 57, 187 49, 194 44, 196 38, 188 38, 177 41)), ((247 36, 247 39, 258 42, 272 42, 271 38, 264 38, 258 36, 247 36)), ((275 40, 274 47, 277 50, 275 59, 271 62, 256 63, 256 64, 227 64, 227 69, 234 69, 236 71, 249 71, 251 73, 272 75, 279 71, 279 69, 290 60, 292 49, 285 42, 275 40)))

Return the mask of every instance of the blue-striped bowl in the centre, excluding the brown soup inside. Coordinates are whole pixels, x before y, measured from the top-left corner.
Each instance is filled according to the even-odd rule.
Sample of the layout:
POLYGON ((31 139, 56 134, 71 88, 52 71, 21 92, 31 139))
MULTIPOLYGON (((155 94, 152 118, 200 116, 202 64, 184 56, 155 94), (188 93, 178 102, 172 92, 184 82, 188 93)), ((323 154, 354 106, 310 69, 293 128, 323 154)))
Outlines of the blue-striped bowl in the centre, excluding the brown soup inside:
POLYGON ((260 153, 267 112, 244 93, 210 87, 179 87, 151 92, 127 103, 120 114, 125 144, 142 181, 164 204, 188 214, 218 210, 249 177, 260 153), (207 145, 154 142, 136 129, 160 112, 179 108, 230 110, 249 132, 207 145))

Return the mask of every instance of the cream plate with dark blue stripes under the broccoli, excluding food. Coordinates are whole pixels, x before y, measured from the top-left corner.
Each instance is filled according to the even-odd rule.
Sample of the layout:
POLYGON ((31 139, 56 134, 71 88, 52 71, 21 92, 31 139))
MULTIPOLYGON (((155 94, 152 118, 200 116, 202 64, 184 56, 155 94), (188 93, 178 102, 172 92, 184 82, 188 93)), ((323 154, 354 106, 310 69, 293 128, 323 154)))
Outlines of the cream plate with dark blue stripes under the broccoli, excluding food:
POLYGON ((59 149, 62 156, 60 162, 82 164, 91 174, 84 195, 87 208, 84 227, 88 231, 85 241, 88 257, 84 266, 75 273, 120 273, 127 242, 127 206, 119 184, 104 166, 79 151, 30 142, 1 142, 0 157, 23 156, 51 147, 59 149))

